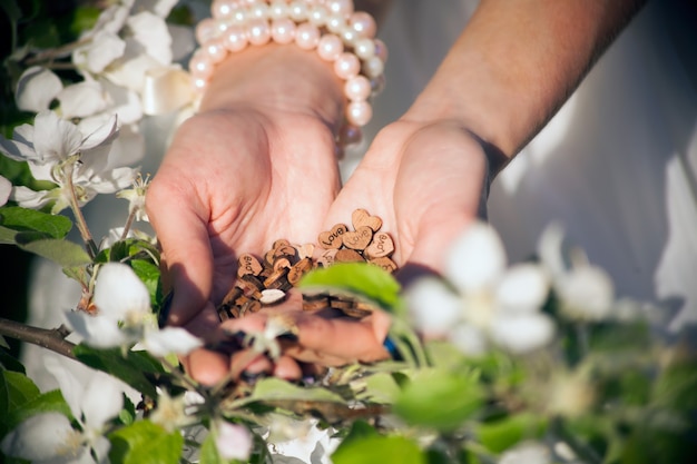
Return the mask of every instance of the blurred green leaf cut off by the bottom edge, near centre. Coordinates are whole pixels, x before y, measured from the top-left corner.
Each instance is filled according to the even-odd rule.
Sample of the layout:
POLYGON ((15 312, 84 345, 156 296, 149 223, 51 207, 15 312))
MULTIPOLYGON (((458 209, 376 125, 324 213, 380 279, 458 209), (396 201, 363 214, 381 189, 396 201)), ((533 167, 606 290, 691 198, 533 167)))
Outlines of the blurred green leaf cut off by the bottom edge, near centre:
POLYGON ((334 464, 426 464, 424 453, 403 436, 366 436, 344 441, 334 454, 334 464))

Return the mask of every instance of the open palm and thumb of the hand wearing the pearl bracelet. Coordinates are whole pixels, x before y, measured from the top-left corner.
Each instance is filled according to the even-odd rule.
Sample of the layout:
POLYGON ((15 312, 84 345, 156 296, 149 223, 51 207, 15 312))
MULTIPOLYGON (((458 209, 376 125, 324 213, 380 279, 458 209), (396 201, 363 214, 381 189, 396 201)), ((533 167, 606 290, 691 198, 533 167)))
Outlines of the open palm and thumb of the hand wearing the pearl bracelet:
POLYGON ((150 216, 175 278, 194 284, 184 310, 222 299, 240 253, 261 255, 278 238, 314 241, 337 189, 331 132, 314 118, 217 111, 187 121, 148 198, 161 198, 150 216))

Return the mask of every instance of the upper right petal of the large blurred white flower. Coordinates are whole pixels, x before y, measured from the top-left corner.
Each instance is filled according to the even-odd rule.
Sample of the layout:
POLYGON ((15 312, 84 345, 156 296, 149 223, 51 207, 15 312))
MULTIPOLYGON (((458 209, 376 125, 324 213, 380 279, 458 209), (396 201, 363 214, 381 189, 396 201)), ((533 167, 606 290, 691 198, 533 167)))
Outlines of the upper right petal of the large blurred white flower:
POLYGON ((549 295, 549 282, 534 264, 511 266, 497 287, 498 307, 504 312, 534 312, 549 295))

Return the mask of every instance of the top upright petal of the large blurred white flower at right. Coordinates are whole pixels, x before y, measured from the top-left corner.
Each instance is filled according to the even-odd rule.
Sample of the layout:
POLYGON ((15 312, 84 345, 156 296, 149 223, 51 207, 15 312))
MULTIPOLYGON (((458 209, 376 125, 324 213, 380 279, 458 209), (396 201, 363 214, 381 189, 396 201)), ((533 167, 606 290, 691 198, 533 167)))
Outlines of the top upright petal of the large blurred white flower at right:
POLYGON ((499 234, 485 223, 474 223, 454 243, 445 276, 463 293, 493 286, 507 266, 499 234))

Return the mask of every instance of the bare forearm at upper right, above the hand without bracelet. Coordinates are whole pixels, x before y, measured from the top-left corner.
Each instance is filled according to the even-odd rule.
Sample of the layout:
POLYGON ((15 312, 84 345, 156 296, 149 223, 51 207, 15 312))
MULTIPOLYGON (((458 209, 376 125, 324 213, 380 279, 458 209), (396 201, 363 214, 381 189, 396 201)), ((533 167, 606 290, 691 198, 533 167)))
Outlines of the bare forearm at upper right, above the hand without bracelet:
POLYGON ((482 0, 412 108, 513 157, 549 121, 642 0, 482 0))

